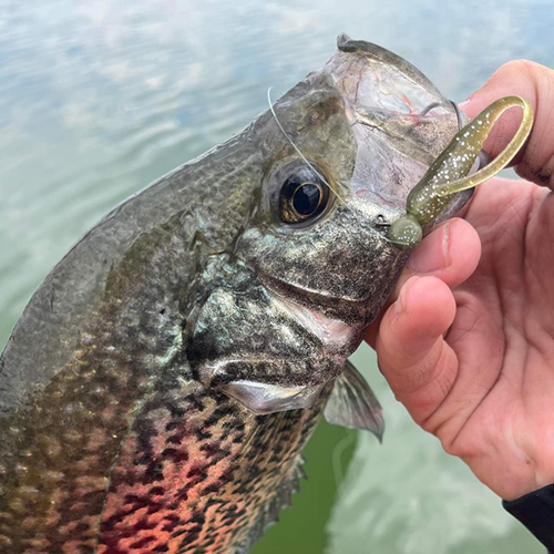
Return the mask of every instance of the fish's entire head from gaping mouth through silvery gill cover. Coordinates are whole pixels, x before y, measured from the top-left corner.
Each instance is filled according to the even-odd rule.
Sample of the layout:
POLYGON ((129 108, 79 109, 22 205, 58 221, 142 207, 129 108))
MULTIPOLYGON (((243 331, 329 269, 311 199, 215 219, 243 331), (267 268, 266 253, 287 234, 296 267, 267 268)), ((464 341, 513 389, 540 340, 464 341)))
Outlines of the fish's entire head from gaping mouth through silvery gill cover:
POLYGON ((394 287, 408 254, 388 226, 458 129, 419 70, 346 35, 255 122, 259 196, 195 336, 206 383, 257 413, 311 406, 394 287))

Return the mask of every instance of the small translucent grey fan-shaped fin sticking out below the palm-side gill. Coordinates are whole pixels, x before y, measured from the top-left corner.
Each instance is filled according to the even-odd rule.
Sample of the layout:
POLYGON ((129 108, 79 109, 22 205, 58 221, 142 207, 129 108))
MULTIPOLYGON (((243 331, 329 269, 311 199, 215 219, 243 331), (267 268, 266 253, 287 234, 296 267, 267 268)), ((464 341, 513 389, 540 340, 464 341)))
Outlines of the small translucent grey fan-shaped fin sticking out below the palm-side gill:
POLYGON ((379 400, 366 379, 346 361, 342 373, 335 379, 335 387, 325 408, 325 419, 334 425, 366 429, 382 441, 384 420, 379 400))

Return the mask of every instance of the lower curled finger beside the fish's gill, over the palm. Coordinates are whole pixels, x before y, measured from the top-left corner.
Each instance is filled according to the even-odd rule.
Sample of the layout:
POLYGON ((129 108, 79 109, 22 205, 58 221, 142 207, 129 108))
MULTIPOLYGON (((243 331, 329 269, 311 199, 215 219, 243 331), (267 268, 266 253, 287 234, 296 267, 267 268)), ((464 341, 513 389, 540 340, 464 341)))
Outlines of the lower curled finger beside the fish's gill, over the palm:
POLYGON ((456 357, 442 338, 454 316, 454 297, 441 279, 412 277, 381 321, 376 341, 379 367, 420 424, 455 380, 456 357))

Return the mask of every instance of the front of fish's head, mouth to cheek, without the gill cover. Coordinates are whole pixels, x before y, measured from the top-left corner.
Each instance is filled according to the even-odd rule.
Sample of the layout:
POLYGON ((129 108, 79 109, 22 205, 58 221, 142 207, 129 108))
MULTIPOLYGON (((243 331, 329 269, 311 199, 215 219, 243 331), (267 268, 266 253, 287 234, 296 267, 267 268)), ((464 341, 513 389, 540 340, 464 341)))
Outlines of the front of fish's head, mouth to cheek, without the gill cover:
POLYGON ((260 207, 238 254, 275 294, 365 327, 407 257, 387 239, 388 225, 406 214, 408 194, 459 122, 400 57, 346 35, 338 47, 267 114, 260 207))

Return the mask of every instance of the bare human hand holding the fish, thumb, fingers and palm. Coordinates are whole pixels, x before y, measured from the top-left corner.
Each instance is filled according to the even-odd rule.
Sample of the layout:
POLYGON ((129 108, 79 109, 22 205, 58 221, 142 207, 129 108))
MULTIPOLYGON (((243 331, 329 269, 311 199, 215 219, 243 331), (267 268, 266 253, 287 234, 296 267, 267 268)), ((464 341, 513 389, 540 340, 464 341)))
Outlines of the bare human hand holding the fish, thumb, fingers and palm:
MULTIPOLYGON (((368 330, 379 366, 414 421, 504 500, 554 482, 554 71, 502 66, 462 109, 517 94, 534 107, 520 176, 480 185, 412 253, 368 330)), ((510 110, 485 144, 515 133, 510 110)))

